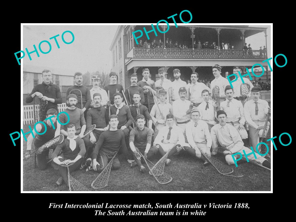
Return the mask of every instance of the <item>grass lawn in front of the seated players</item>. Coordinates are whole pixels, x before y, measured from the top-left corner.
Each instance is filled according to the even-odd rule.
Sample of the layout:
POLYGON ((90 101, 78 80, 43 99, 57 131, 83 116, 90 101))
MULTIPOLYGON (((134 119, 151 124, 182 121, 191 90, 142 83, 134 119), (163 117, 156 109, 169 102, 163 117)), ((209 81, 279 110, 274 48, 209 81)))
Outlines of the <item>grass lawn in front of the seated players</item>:
MULTIPOLYGON (((33 125, 31 125, 33 128, 33 125)), ((28 132, 28 125, 23 127, 28 132)), ((270 138, 270 130, 268 132, 270 138)), ((267 142, 270 147, 270 141, 267 142)), ((27 142, 23 140, 23 157, 27 142)), ((51 153, 51 152, 50 152, 51 153)), ((270 151, 269 151, 270 153, 270 151)), ((222 154, 215 156, 226 163, 222 154)), ((271 171, 252 163, 241 163, 238 167, 232 165, 231 175, 243 177, 223 176, 212 166, 203 166, 202 160, 189 156, 186 152, 171 158, 172 163, 165 166, 165 173, 173 180, 168 184, 158 184, 152 175, 141 173, 139 167, 130 168, 123 155, 118 156, 120 169, 111 170, 108 186, 103 189, 92 189, 91 183, 99 175, 94 171, 77 170, 71 175, 91 191, 270 191, 271 171)), ((156 163, 160 159, 157 154, 151 161, 156 163)), ((46 170, 34 169, 33 155, 23 161, 23 191, 67 191, 67 186, 57 186, 59 171, 49 166, 46 170)))

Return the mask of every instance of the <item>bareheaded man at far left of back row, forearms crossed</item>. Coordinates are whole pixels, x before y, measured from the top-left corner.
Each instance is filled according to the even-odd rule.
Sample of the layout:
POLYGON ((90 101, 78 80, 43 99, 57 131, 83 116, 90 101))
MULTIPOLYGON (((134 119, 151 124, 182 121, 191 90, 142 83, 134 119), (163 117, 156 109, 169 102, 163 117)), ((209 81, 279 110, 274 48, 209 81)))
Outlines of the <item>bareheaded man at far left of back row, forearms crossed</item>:
POLYGON ((55 109, 59 112, 57 104, 62 103, 62 94, 59 86, 52 84, 52 72, 48 69, 42 71, 42 84, 36 85, 32 92, 27 96, 26 103, 33 102, 33 98, 38 96, 42 101, 47 101, 48 104, 44 110, 43 116, 40 116, 40 121, 46 117, 46 112, 49 109, 55 109))

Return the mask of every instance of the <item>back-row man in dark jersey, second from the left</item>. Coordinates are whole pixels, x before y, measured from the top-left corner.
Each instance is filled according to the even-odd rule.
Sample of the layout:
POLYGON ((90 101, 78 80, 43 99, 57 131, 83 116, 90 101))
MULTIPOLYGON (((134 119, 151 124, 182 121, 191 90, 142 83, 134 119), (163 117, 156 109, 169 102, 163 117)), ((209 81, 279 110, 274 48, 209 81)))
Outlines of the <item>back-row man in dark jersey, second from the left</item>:
POLYGON ((74 74, 74 82, 75 82, 74 86, 70 86, 67 89, 66 98, 68 97, 68 95, 70 94, 70 91, 72 89, 79 89, 81 91, 81 95, 82 95, 82 101, 81 101, 82 102, 82 111, 83 111, 84 119, 86 119, 87 110, 90 108, 90 104, 91 104, 91 93, 90 93, 90 90, 89 90, 88 87, 82 85, 82 82, 83 82, 82 73, 76 72, 74 74))

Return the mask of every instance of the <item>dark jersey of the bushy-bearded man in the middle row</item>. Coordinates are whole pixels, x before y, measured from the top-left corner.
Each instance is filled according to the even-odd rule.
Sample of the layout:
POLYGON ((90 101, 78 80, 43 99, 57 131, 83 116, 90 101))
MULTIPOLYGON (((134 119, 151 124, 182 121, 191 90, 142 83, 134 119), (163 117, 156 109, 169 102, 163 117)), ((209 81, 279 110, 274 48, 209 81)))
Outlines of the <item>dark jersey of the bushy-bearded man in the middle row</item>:
MULTIPOLYGON (((76 134, 81 132, 81 126, 83 126, 84 124, 86 124, 85 119, 84 119, 84 114, 83 111, 77 107, 75 107, 74 110, 70 110, 69 108, 65 109, 64 112, 67 112, 69 117, 70 117, 70 121, 69 123, 74 123, 76 126, 76 134)), ((59 121, 61 123, 67 123, 68 122, 68 117, 65 113, 62 113, 59 115, 59 121)), ((61 130, 64 129, 65 131, 67 131, 67 129, 65 128, 67 125, 62 125, 61 124, 61 130)))

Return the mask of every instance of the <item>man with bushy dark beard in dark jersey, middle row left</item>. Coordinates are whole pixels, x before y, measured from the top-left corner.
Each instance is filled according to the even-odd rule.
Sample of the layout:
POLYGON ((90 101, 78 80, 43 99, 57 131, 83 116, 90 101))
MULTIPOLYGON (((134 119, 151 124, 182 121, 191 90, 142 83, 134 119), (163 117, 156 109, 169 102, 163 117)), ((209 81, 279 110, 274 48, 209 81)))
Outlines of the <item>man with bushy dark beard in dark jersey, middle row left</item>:
POLYGON ((69 94, 67 96, 66 102, 68 108, 66 108, 63 113, 59 115, 59 121, 61 123, 61 134, 63 134, 64 136, 68 136, 68 133, 64 128, 65 124, 69 123, 70 121, 71 123, 75 124, 75 135, 78 135, 79 138, 83 138, 87 154, 91 142, 87 136, 83 137, 83 133, 86 130, 86 122, 84 119, 83 110, 76 107, 77 96, 74 94, 69 94), (68 115, 66 115, 65 112, 68 115))

